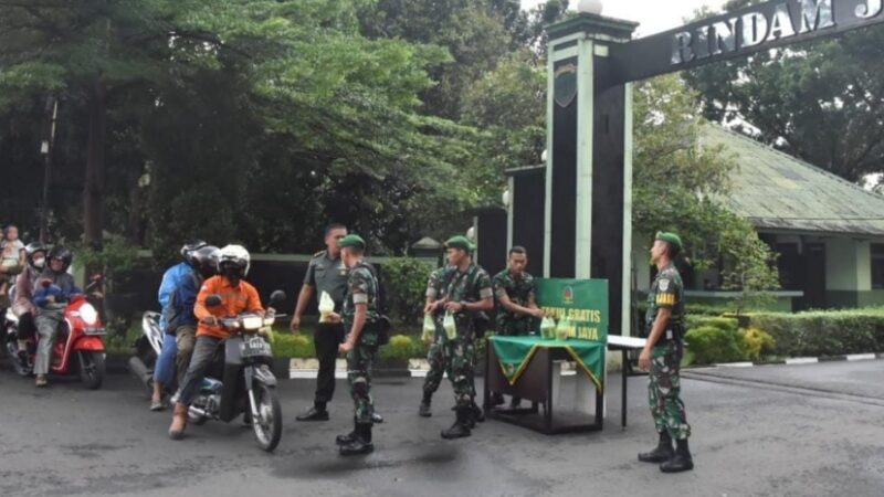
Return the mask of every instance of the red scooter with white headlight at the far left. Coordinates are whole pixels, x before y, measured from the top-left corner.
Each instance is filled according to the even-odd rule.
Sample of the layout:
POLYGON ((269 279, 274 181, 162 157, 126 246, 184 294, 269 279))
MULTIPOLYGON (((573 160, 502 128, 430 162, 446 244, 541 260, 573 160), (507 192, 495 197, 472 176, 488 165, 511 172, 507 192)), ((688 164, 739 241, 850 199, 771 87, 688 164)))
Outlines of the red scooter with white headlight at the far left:
MULTIPOLYGON (((85 288, 85 294, 97 289, 101 277, 96 276, 85 288)), ((74 295, 66 304, 50 304, 63 308, 63 319, 60 325, 55 345, 52 348, 50 363, 51 374, 78 373, 83 384, 90 390, 102 387, 105 377, 105 349, 102 337, 106 335, 102 326, 98 311, 85 294, 74 295)), ((12 363, 15 373, 30 377, 34 370, 36 357, 36 342, 39 337, 24 338, 24 360, 19 355, 19 318, 7 309, 7 335, 3 349, 12 363)))

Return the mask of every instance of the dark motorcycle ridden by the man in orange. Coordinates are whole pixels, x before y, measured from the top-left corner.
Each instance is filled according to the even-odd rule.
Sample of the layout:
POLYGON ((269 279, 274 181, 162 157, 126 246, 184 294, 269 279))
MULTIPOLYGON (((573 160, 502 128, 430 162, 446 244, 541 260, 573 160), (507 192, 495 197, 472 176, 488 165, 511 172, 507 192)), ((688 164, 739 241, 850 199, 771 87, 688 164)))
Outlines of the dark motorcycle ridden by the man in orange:
MULTIPOLYGON (((282 408, 276 398, 276 377, 271 371, 273 352, 264 338, 277 316, 273 310, 285 300, 283 292, 271 295, 265 315, 243 313, 219 319, 232 331, 206 374, 200 392, 188 411, 188 421, 201 425, 208 420, 229 423, 239 414, 252 425, 257 445, 273 452, 283 432, 282 408)), ((209 296, 208 307, 221 305, 221 297, 209 296)))

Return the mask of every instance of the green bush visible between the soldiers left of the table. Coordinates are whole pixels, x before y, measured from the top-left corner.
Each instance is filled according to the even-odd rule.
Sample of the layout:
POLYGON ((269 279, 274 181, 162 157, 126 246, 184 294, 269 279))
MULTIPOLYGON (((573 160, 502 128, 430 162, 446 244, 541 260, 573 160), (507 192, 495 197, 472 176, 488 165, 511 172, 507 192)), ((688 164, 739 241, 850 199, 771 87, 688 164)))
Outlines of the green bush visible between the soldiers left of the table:
POLYGON ((391 258, 383 264, 380 277, 393 319, 404 325, 422 322, 427 281, 432 271, 432 266, 412 257, 391 258))

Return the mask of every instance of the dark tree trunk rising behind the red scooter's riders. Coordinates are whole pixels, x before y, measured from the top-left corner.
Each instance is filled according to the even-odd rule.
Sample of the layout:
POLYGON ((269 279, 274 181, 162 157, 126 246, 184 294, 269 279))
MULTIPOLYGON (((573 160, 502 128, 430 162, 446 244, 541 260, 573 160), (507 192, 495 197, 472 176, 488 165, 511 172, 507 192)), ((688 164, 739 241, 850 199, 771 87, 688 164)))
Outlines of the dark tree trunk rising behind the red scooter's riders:
POLYGON ((96 81, 88 99, 90 134, 86 181, 83 189, 83 228, 88 246, 101 248, 104 230, 104 183, 107 88, 96 81))

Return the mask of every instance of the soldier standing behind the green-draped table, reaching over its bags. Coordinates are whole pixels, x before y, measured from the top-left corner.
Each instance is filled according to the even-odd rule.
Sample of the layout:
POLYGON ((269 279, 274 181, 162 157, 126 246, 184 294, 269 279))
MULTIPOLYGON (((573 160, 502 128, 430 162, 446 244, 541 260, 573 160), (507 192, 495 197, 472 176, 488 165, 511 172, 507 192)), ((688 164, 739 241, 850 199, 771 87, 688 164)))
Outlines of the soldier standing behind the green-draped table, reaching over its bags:
MULTIPOLYGON (((506 269, 497 273, 492 281, 494 297, 497 302, 497 335, 507 337, 524 336, 536 332, 544 311, 537 307, 534 276, 525 271, 528 265, 528 253, 523 246, 509 250, 506 269)), ((517 409, 520 399, 514 396, 511 409, 517 409)), ((503 394, 494 392, 494 403, 504 403, 503 394)))

